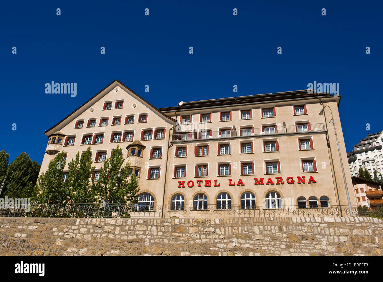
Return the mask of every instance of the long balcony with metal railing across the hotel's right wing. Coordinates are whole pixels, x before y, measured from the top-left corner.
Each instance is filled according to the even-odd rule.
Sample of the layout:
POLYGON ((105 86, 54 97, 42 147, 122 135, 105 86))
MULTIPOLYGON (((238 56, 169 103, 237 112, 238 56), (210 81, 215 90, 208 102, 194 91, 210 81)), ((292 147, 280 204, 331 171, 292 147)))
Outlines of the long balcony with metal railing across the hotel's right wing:
POLYGON ((236 129, 222 131, 203 131, 203 132, 183 132, 172 135, 172 142, 187 141, 187 140, 207 140, 207 139, 232 139, 235 137, 252 137, 261 135, 277 135, 277 134, 306 134, 308 132, 326 131, 324 124, 310 124, 307 129, 301 129, 296 125, 275 126, 254 129, 236 129))

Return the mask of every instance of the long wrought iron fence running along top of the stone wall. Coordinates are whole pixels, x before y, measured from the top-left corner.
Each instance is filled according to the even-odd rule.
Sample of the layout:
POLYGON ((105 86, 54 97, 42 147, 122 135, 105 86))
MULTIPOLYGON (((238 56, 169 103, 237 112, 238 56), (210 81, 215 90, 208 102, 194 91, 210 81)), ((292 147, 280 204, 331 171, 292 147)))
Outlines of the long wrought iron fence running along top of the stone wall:
MULTIPOLYGON (((383 217, 383 209, 352 206, 354 216, 383 217)), ((349 206, 306 207, 282 206, 265 208, 241 205, 154 205, 31 203, 30 209, 0 209, 0 217, 36 218, 245 218, 245 217, 340 217, 350 216, 349 206), (224 208, 223 208, 224 207, 224 208), (248 206, 247 206, 248 207, 248 206)))

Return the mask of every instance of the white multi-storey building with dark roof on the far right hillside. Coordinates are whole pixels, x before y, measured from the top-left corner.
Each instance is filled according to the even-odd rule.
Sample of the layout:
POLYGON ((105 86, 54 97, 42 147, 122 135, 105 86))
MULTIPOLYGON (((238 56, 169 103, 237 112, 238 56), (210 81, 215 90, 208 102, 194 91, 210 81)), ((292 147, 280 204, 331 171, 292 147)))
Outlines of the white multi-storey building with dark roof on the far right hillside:
POLYGON ((374 170, 383 172, 383 131, 368 134, 354 145, 354 150, 347 153, 351 176, 358 176, 359 167, 366 168, 372 175, 374 170))

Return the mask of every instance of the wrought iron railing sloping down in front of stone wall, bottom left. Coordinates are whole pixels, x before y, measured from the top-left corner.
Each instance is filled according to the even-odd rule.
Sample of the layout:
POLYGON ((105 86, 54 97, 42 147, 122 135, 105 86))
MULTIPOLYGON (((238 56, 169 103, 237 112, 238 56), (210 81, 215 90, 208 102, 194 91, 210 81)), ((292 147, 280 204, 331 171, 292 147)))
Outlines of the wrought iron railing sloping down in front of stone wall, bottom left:
POLYGON ((52 248, 44 244, 31 243, 26 239, 9 237, 0 233, 0 255, 11 256, 74 256, 74 253, 52 248))

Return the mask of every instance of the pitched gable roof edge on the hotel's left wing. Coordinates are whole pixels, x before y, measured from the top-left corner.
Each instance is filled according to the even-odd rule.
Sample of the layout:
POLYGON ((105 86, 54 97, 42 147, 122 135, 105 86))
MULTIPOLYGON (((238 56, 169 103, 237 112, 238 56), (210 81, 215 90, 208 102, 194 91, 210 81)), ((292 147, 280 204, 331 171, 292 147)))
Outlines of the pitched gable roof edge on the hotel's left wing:
MULTIPOLYGON (((52 131, 53 130, 57 130, 59 129, 58 126, 61 125, 65 120, 68 120, 68 121, 71 121, 72 119, 75 119, 75 117, 77 117, 80 113, 82 113, 85 109, 87 109, 88 107, 90 107, 91 105, 93 105, 95 102, 97 102, 99 99, 101 99, 101 97, 99 99, 97 99, 98 96, 101 96, 102 94, 106 94, 108 89, 113 89, 114 87, 116 86, 120 86, 120 87, 123 87, 125 88, 125 90, 128 90, 128 92, 131 92, 132 94, 134 94, 137 99, 139 100, 142 100, 142 102, 144 102, 145 104, 147 104, 147 106, 151 107, 155 112, 157 112, 159 115, 161 115, 162 117, 164 117, 164 119, 167 119, 167 120, 170 120, 171 122, 176 122, 175 119, 169 117, 168 115, 165 115, 162 111, 160 111, 159 109, 157 109, 156 107, 154 107, 151 103, 149 103, 148 101, 146 101, 144 98, 142 98, 141 96, 139 96, 136 92, 134 92, 133 90, 131 90, 129 87, 127 87, 126 85, 124 85, 122 82, 118 81, 117 79, 115 79, 114 81, 112 81, 110 84, 108 84, 108 86, 106 86, 104 89, 102 89, 100 92, 98 92, 95 96, 91 97, 88 101, 86 101, 85 103, 83 103, 80 107, 78 107, 77 109, 75 109, 73 112, 71 112, 69 115, 67 115, 66 117, 64 117, 64 119, 60 120, 59 122, 57 122, 57 124, 53 125, 50 129, 47 129, 45 130, 44 134, 49 136, 52 134, 52 131)), ((63 126, 62 126, 63 127, 63 126)), ((64 134, 65 135, 65 134, 64 134)))

